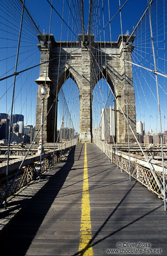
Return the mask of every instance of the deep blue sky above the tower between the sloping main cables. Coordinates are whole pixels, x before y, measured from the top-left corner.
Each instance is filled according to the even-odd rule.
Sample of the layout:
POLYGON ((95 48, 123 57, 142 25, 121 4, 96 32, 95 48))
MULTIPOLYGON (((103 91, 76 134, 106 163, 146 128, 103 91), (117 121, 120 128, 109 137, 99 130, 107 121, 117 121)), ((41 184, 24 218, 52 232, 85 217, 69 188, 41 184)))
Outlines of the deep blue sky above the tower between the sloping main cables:
MULTIPOLYGON (((37 24, 40 26, 41 32, 43 29, 45 29, 47 32, 49 31, 49 23, 50 23, 50 5, 46 0, 28 0, 26 1, 26 6, 28 7, 28 10, 30 10, 30 13, 34 17, 37 24), (43 17, 44 16, 44 17, 43 17)), ((51 2, 51 0, 50 0, 51 2)), ((69 0, 70 2, 70 0, 69 0)), ((104 2, 104 1, 103 1, 104 2)), ((108 2, 108 1, 107 1, 108 2)), ((121 0, 121 6, 125 3, 125 0, 121 0)), ((84 24, 85 29, 88 26, 88 16, 89 16, 89 0, 84 0, 84 24)), ((63 0, 53 1, 53 5, 57 12, 62 16, 63 14, 63 0)), ((107 3, 105 5, 107 8, 104 8, 104 19, 105 24, 109 21, 108 17, 108 6, 107 3)), ((147 7, 147 0, 129 0, 125 7, 122 10, 122 22, 123 22, 123 33, 125 33, 127 30, 132 31, 133 26, 137 24, 139 21, 139 18, 143 14, 144 10, 147 7)), ((111 17, 118 11, 119 9, 119 0, 110 0, 110 13, 111 17)), ((68 16, 69 16, 69 9, 67 5, 67 1, 65 0, 65 7, 64 7, 64 19, 68 23, 68 16)), ((102 24, 101 24, 102 25, 102 24)), ((109 27, 109 26, 108 26, 109 27)), ((60 29, 61 28, 61 19, 58 17, 58 15, 53 11, 53 20, 52 20, 52 26, 51 26, 51 33, 54 34, 55 40, 60 40, 60 29)), ((112 37, 113 41, 117 41, 118 36, 121 34, 120 29, 120 15, 117 14, 117 16, 113 19, 113 22, 111 22, 111 29, 112 29, 112 37)), ((67 40, 67 29, 66 26, 64 26, 63 29, 63 37, 62 40, 67 40)), ((106 41, 110 40, 110 35, 107 36, 106 34, 106 41)))

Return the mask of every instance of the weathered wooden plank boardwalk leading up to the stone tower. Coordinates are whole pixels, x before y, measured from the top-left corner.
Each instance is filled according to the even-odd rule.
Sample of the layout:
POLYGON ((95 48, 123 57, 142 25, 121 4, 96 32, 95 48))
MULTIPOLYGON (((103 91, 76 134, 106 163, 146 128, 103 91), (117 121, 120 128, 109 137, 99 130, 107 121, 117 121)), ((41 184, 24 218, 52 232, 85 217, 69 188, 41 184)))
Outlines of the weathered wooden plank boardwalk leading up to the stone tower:
MULTIPOLYGON (((85 247, 92 246, 95 256, 167 255, 162 200, 136 180, 129 182, 96 145, 86 146, 92 239, 85 247), (122 251, 107 253, 108 249, 122 251), (134 249, 142 252, 124 251, 134 249)), ((2 220, 12 217, 0 233, 0 255, 92 255, 90 250, 78 252, 84 148, 78 144, 67 161, 20 191, 8 210, 1 211, 2 220)))

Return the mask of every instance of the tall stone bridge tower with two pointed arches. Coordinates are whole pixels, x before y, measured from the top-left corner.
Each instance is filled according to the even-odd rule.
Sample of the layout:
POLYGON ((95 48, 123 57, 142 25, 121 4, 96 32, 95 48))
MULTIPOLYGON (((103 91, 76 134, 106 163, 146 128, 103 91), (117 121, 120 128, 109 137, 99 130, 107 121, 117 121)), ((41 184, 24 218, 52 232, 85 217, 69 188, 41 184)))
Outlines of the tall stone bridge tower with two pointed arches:
MULTIPOLYGON (((98 80, 102 77, 111 86, 111 89, 119 102, 120 107, 126 114, 126 96, 128 108, 129 124, 136 132, 136 108, 135 108, 135 93, 132 82, 132 66, 130 63, 125 63, 126 68, 126 92, 125 93, 125 73, 123 59, 123 44, 122 37, 119 36, 117 42, 94 42, 93 47, 89 44, 93 41, 94 35, 84 36, 79 35, 78 42, 56 42, 54 36, 50 35, 49 57, 54 59, 48 64, 41 65, 40 77, 36 80, 39 84, 37 97, 37 111, 36 111, 36 131, 41 125, 41 113, 43 108, 43 101, 40 97, 41 87, 44 85, 46 79, 47 96, 44 102, 44 116, 47 114, 51 105, 53 104, 56 93, 59 92, 61 86, 70 77, 73 79, 80 90, 80 141, 92 142, 92 91, 98 80), (99 61, 99 50, 100 61, 99 61), (105 52, 105 53, 104 53, 105 52), (98 73, 93 75, 92 54, 94 61, 99 67, 98 73), (111 57, 113 56, 113 58, 111 57), (59 58, 59 56, 61 56, 59 58), (119 57, 119 58, 115 58, 119 57), (120 59, 121 58, 121 59, 120 59), (46 72, 47 65, 47 72, 46 72), (45 78, 46 77, 46 78, 45 78), (96 78, 95 78, 96 77, 96 78)), ((49 35, 38 35, 40 44, 38 47, 41 51, 41 62, 47 60, 47 48, 49 35)), ((131 55, 127 51, 127 36, 123 36, 125 59, 131 61, 131 55)), ((132 38, 132 41, 134 38, 132 38)), ((131 42, 132 43, 132 42, 131 42)), ((117 142, 127 142, 127 122, 123 116, 118 103, 115 103, 116 111, 116 137, 117 142)), ((54 141, 54 124, 57 106, 53 105, 48 114, 43 126, 43 141, 54 141)), ((130 142, 133 142, 133 135, 129 130, 130 142)), ((37 137, 39 139, 39 136, 37 137)))

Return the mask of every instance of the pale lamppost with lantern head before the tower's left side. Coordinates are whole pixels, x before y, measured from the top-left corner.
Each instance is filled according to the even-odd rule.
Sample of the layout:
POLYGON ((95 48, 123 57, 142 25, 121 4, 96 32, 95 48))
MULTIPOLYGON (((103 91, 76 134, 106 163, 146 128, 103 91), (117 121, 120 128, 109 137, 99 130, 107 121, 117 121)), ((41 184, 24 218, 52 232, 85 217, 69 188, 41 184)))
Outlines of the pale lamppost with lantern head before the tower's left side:
POLYGON ((42 146, 42 132, 43 132, 43 113, 44 113, 44 102, 49 97, 50 92, 50 84, 52 80, 48 76, 40 76, 35 82, 39 85, 38 87, 38 97, 42 100, 42 111, 41 111, 41 130, 40 130, 40 142, 38 147, 38 154, 42 154, 44 152, 42 146))

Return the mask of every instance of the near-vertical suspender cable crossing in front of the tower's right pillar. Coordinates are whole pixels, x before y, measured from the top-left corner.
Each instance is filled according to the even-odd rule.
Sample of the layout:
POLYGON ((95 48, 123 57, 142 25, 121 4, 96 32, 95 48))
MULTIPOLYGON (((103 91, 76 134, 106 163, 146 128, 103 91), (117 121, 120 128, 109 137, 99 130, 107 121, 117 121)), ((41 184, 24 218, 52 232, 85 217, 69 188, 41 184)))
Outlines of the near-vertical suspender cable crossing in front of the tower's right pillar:
MULTIPOLYGON (((122 31, 122 16, 121 16, 121 3, 119 0, 119 8, 120 8, 120 22, 121 22, 121 35, 122 35, 122 47, 123 47, 123 56, 125 59, 124 52, 124 41, 123 41, 123 31, 122 31)), ((130 178, 130 146, 129 146, 129 118, 128 118, 128 109, 127 109, 127 88, 126 88, 126 69, 125 69, 125 61, 124 61, 124 73, 125 73, 125 93, 126 93, 126 116, 127 116, 127 136, 128 136, 128 151, 129 151, 129 180, 130 178)))

